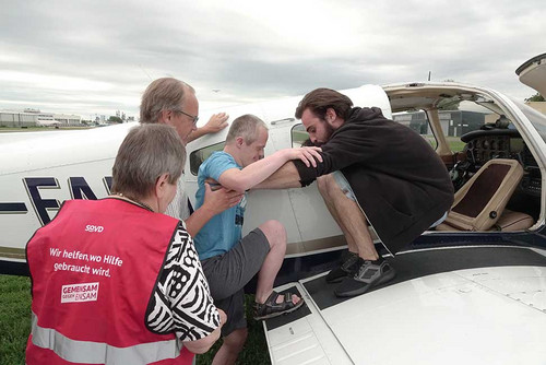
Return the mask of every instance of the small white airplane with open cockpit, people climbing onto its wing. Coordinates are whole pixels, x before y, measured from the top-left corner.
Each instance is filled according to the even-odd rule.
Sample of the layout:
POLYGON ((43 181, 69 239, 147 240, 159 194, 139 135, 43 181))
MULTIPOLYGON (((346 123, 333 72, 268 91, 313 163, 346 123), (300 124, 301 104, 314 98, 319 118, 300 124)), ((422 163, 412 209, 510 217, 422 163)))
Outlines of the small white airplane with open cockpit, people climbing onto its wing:
MULTIPOLYGON (((530 84, 539 75, 537 84, 544 85, 545 63, 546 54, 518 74, 530 84)), ((341 92, 356 106, 380 107, 430 141, 459 188, 455 213, 442 231, 425 232, 396 257, 387 256, 397 271, 391 283, 340 299, 322 276, 345 240, 316 186, 250 192, 245 229, 269 219, 284 223, 288 249, 277 285, 295 286, 306 299, 304 308, 264 321, 272 363, 544 363, 546 116, 497 91, 453 82, 341 92), (519 175, 497 184, 484 173, 506 161, 519 175), (456 214, 458 202, 484 197, 479 189, 491 191, 495 184, 498 189, 475 216, 456 214)), ((257 115, 270 129, 268 155, 307 139, 294 118, 300 99, 205 110, 201 120, 218 111, 230 118, 257 115)), ((0 134, 0 272, 27 273, 25 244, 62 201, 109 193, 117 149, 132 126, 0 134)), ((223 148, 226 134, 188 145, 190 197, 199 164, 223 148)))

